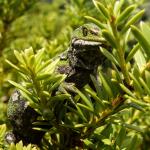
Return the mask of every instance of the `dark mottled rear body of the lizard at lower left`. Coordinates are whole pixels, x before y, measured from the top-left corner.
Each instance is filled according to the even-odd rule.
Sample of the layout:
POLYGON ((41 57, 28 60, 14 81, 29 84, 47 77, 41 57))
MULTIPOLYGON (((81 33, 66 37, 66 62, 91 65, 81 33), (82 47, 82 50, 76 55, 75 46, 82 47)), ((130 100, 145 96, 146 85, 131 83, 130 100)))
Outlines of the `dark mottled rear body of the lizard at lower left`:
POLYGON ((8 143, 11 141, 10 136, 14 136, 11 142, 22 140, 24 144, 39 144, 44 132, 32 129, 32 123, 36 121, 38 113, 28 105, 19 90, 16 90, 9 99, 7 116, 13 129, 8 132, 9 136, 6 135, 8 143))

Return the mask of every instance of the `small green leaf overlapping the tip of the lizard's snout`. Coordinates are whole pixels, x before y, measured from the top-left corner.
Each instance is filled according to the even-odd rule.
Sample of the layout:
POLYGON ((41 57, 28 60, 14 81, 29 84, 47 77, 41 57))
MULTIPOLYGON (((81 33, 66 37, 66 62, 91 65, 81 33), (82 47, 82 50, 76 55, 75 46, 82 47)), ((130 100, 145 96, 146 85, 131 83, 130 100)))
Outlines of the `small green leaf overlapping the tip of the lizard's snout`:
POLYGON ((117 43, 115 41, 115 38, 113 37, 113 35, 108 31, 108 30, 102 30, 102 35, 104 36, 104 38, 106 39, 106 41, 108 41, 112 47, 117 49, 117 43))

